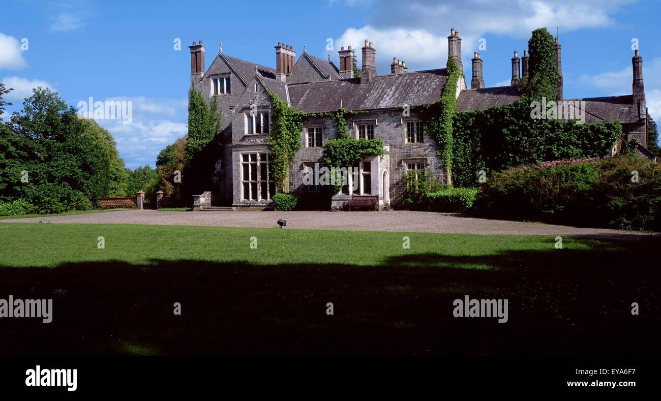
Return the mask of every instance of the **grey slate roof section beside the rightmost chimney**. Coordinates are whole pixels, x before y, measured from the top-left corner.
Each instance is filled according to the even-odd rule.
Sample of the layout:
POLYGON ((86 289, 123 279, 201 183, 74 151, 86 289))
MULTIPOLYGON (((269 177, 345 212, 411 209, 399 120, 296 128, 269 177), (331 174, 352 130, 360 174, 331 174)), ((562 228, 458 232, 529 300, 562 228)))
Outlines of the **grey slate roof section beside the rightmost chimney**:
POLYGON ((620 120, 621 123, 639 122, 638 108, 633 103, 633 96, 606 96, 600 98, 566 99, 584 101, 588 123, 598 124, 602 121, 620 120))

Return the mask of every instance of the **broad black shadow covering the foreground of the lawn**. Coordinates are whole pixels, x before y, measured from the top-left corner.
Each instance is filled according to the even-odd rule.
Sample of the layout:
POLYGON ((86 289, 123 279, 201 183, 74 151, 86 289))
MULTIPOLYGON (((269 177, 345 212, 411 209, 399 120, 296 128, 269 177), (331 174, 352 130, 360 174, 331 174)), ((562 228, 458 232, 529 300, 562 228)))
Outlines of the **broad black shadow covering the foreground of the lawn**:
POLYGON ((0 298, 54 299, 54 318, 1 319, 0 354, 660 354, 658 243, 616 246, 412 254, 373 267, 5 267, 0 298), (464 295, 508 299, 509 321, 454 318, 464 295))

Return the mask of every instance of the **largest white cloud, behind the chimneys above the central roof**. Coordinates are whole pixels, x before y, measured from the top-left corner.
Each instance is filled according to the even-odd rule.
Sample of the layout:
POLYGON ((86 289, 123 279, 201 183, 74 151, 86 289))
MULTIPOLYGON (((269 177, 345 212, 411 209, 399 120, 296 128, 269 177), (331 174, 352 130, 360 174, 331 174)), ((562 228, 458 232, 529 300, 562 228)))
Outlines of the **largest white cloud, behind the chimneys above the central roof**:
POLYGON ((385 0, 378 5, 356 7, 365 11, 366 25, 347 29, 336 44, 358 46, 360 52, 362 41, 371 40, 380 54, 377 57, 379 69, 386 67, 384 52, 386 59, 405 59, 410 69, 435 68, 445 65, 447 35, 452 27, 460 32, 466 56, 477 48, 477 41, 486 34, 526 38, 540 26, 547 26, 549 30, 560 26, 561 32, 609 26, 614 23, 611 15, 636 1, 463 0, 439 3, 436 0, 385 0))

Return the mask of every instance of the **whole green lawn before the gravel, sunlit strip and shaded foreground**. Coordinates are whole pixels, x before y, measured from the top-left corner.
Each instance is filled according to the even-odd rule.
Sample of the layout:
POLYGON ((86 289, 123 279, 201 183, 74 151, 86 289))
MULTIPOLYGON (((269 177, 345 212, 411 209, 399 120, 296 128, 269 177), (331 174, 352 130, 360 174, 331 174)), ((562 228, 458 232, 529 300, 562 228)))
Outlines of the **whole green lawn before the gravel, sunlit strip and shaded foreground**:
POLYGON ((50 324, 0 320, 0 354, 661 353, 658 238, 0 223, 0 244, 0 299, 54 299, 50 324), (464 295, 509 321, 454 318, 464 295))

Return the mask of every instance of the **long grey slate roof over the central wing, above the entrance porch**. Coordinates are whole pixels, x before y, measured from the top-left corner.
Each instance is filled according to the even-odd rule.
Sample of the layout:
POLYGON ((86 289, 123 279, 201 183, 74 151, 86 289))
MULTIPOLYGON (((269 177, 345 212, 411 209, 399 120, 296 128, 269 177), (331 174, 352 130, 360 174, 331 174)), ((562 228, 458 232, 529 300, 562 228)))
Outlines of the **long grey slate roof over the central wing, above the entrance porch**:
POLYGON ((433 103, 446 83, 446 69, 377 75, 369 84, 360 79, 322 81, 289 85, 292 107, 307 113, 396 108, 405 104, 433 103))

